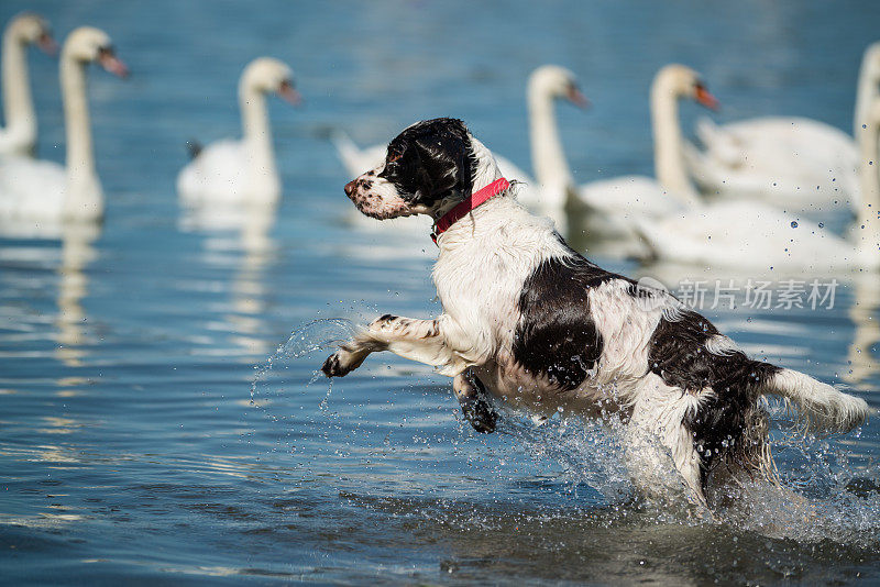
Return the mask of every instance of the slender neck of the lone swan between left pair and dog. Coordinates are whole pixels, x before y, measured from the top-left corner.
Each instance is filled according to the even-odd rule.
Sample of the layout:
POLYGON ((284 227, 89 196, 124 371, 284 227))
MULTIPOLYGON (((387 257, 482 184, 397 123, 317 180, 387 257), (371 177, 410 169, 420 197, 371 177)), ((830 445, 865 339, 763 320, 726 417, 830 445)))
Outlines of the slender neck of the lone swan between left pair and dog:
MULTIPOLYGON (((277 182, 272 129, 266 111, 266 95, 243 81, 239 88, 239 103, 251 180, 261 186, 267 181, 277 182)), ((272 193, 274 191, 277 189, 255 189, 254 196, 274 199, 277 197, 277 193, 272 193)))

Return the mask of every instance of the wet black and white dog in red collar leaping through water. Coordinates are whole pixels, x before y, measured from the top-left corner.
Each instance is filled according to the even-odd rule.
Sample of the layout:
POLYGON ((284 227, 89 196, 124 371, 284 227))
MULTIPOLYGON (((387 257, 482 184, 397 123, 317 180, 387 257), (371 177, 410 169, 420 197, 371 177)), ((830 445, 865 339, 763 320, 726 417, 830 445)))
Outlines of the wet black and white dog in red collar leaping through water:
POLYGON ((616 413, 627 465, 645 491, 705 503, 711 478, 773 478, 762 397, 779 396, 814 430, 846 432, 867 403, 802 373, 752 361, 669 294, 605 272, 526 211, 492 153, 454 119, 422 121, 386 159, 345 186, 369 217, 429 214, 443 313, 386 314, 331 355, 328 377, 391 351, 453 378, 471 423, 494 430, 484 394, 549 414, 616 413), (661 474, 671 462, 680 474, 661 474))

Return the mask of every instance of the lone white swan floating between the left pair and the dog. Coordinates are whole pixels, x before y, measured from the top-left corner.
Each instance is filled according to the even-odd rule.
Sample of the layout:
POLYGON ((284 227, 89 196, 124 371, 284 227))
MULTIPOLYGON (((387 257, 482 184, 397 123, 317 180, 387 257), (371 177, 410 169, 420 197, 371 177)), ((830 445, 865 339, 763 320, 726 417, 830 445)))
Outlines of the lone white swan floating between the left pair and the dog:
POLYGON ((290 68, 278 59, 258 57, 239 80, 243 139, 218 141, 201 152, 177 176, 177 192, 190 206, 246 203, 267 206, 280 197, 266 93, 293 104, 300 101, 290 68))

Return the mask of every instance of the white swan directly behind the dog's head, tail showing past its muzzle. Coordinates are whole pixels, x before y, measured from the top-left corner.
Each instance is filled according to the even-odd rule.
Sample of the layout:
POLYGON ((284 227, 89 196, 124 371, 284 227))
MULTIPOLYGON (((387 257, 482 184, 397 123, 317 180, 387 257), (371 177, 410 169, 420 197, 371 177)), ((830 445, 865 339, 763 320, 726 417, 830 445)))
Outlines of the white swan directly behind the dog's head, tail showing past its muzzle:
MULTIPOLYGON (((557 99, 569 100, 581 108, 587 104, 574 74, 558 65, 542 65, 531 73, 526 89, 531 162, 537 180, 505 157, 495 155, 495 160, 504 177, 521 181, 517 187, 517 199, 531 210, 552 218, 560 231, 565 232, 565 199, 573 179, 559 140, 553 108, 557 99)), ((342 132, 333 133, 331 140, 351 176, 376 167, 385 158, 386 145, 359 148, 342 132)))

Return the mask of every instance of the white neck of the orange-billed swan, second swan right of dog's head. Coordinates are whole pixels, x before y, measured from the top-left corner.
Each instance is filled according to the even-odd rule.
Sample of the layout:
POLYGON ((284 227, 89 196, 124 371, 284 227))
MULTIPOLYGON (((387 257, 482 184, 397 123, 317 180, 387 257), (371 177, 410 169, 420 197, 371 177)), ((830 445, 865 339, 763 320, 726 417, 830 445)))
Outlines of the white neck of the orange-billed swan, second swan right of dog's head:
POLYGON ((662 78, 651 86, 651 128, 657 180, 670 197, 688 207, 697 206, 700 198, 684 167, 679 96, 662 78))

